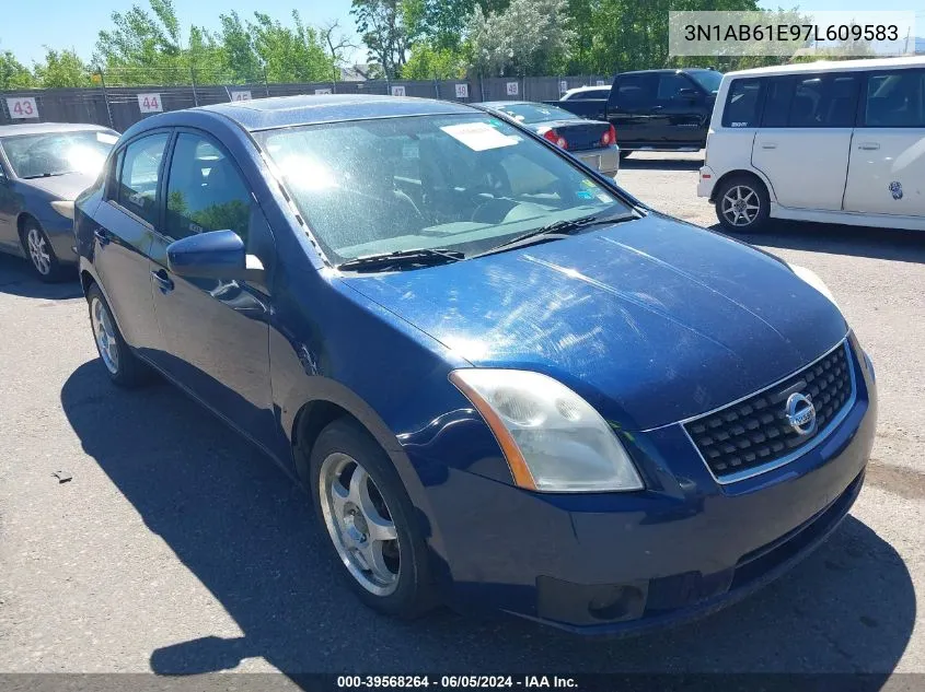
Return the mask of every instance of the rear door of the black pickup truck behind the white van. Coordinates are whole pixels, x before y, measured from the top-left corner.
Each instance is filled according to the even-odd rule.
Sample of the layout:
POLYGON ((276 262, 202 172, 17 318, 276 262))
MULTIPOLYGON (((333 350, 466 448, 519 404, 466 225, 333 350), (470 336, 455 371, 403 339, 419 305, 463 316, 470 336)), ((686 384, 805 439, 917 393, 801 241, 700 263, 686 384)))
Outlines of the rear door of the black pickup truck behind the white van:
POLYGON ((663 117, 658 115, 656 95, 658 74, 637 72, 621 74, 611 90, 609 119, 616 129, 621 146, 633 149, 655 145, 663 129, 663 117))

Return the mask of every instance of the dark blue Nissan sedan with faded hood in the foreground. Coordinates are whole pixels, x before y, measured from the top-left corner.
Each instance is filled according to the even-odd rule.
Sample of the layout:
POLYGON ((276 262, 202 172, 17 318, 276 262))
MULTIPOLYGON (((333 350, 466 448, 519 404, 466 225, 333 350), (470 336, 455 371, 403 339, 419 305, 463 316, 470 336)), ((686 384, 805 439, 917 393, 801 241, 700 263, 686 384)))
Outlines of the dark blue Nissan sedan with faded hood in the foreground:
POLYGON ((864 480, 874 370, 816 274, 464 104, 146 118, 76 224, 101 372, 264 449, 381 612, 678 622, 791 566, 864 480))

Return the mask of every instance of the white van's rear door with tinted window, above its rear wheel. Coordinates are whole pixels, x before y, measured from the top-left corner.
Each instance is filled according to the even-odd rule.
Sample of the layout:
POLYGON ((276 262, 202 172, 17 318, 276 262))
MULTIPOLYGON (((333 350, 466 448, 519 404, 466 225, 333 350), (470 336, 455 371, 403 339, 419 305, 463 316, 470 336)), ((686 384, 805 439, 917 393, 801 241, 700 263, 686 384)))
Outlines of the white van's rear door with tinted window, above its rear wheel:
POLYGON ((857 72, 767 80, 752 165, 783 207, 842 209, 859 81, 857 72))

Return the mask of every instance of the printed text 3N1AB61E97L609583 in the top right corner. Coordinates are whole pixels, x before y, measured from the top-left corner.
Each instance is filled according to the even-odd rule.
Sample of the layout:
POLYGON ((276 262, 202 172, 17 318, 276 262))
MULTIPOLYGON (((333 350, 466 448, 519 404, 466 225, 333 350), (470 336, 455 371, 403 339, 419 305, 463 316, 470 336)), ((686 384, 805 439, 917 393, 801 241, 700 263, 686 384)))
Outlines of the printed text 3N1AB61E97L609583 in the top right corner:
POLYGON ((685 24, 684 40, 899 40, 895 24, 685 24))

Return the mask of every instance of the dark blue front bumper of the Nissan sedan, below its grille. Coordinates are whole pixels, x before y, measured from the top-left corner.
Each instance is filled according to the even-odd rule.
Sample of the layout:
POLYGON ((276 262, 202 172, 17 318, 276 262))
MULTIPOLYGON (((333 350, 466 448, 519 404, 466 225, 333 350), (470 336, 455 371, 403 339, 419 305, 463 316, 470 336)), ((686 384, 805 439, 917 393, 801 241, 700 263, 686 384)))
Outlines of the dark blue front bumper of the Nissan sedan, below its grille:
POLYGON ((824 442, 724 486, 677 425, 635 435, 641 493, 530 493, 450 471, 429 489, 450 598, 598 634, 657 629, 742 598, 818 546, 860 491, 877 403, 872 371, 856 355, 853 367, 857 400, 824 442))

